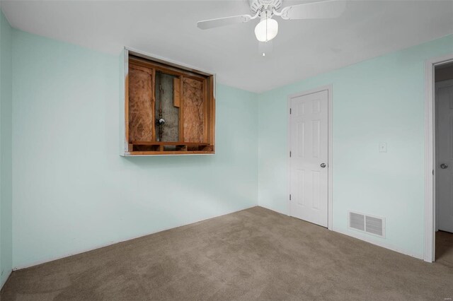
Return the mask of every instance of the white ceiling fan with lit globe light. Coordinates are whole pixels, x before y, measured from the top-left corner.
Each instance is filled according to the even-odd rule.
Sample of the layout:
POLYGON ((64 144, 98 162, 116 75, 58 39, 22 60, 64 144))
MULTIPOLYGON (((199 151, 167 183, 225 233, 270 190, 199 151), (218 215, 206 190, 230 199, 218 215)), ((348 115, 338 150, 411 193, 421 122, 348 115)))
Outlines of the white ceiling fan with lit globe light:
POLYGON ((283 20, 337 18, 345 10, 345 1, 338 0, 309 2, 287 6, 282 8, 280 12, 278 10, 282 6, 283 0, 248 1, 250 2, 250 9, 253 16, 239 15, 203 20, 197 23, 198 28, 217 28, 237 23, 246 23, 256 18, 260 18, 260 22, 255 28, 255 35, 258 41, 268 42, 277 36, 278 33, 278 23, 273 19, 273 16, 280 16, 283 20))

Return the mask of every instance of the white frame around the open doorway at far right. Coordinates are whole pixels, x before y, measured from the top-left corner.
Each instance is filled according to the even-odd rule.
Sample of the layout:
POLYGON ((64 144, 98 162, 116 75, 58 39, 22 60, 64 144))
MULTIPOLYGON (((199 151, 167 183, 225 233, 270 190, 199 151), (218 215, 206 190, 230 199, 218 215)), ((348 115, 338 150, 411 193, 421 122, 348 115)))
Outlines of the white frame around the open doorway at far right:
POLYGON ((426 61, 425 66, 425 251, 435 261, 435 66, 453 62, 453 54, 426 61))

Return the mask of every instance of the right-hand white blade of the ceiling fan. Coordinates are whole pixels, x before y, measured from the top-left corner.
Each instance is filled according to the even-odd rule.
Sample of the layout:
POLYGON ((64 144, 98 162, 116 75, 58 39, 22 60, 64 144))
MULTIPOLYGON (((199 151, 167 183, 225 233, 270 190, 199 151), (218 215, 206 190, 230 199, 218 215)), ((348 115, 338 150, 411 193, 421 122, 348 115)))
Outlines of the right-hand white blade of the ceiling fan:
POLYGON ((283 8, 281 17, 286 20, 337 18, 345 7, 346 2, 338 0, 298 4, 283 8))

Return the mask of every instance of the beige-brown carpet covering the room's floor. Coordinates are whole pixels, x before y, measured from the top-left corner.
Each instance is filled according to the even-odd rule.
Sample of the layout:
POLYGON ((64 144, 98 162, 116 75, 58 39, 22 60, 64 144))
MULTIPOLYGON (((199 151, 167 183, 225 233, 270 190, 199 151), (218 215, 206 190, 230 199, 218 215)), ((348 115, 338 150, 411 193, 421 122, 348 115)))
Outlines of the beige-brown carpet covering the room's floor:
POLYGON ((254 207, 16 271, 1 300, 445 300, 451 254, 427 264, 254 207))

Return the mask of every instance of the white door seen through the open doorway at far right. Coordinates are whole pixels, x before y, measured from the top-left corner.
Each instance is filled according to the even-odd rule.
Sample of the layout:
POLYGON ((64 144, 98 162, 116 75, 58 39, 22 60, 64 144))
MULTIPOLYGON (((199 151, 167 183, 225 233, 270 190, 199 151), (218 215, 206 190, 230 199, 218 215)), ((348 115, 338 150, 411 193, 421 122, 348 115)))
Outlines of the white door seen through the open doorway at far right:
POLYGON ((453 232, 453 81, 436 83, 436 224, 453 232))

